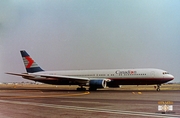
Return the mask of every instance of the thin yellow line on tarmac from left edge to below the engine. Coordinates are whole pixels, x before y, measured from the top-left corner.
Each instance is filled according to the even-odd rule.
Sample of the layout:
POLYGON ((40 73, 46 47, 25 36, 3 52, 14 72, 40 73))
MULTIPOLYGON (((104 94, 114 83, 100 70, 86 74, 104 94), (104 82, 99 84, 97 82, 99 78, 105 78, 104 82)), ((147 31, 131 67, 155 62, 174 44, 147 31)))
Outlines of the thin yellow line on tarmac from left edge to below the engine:
POLYGON ((18 99, 18 98, 49 98, 49 97, 62 97, 62 96, 80 96, 80 95, 88 95, 90 92, 84 93, 74 93, 74 94, 57 94, 57 95, 43 95, 43 96, 0 96, 0 98, 6 99, 18 99))

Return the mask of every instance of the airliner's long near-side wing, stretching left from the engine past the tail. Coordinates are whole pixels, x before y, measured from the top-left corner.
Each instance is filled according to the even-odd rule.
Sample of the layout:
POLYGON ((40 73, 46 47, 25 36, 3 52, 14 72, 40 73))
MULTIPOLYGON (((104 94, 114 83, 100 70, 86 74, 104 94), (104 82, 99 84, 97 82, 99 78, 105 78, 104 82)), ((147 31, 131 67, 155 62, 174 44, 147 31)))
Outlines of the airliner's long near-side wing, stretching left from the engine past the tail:
POLYGON ((40 74, 40 73, 6 73, 9 75, 16 75, 16 76, 22 76, 25 79, 30 79, 30 80, 69 80, 69 81, 74 81, 80 84, 85 84, 89 81, 89 78, 84 78, 84 77, 74 77, 74 76, 63 76, 63 75, 50 75, 50 74, 40 74))

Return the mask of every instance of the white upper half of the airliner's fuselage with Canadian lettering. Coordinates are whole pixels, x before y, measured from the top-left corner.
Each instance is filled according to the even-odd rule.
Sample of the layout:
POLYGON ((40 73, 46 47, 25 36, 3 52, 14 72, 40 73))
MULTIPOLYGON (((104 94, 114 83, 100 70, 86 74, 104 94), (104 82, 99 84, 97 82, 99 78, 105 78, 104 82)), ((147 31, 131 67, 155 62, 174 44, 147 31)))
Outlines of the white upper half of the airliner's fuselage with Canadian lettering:
POLYGON ((87 78, 174 78, 167 71, 160 69, 67 70, 43 71, 38 73, 87 78))

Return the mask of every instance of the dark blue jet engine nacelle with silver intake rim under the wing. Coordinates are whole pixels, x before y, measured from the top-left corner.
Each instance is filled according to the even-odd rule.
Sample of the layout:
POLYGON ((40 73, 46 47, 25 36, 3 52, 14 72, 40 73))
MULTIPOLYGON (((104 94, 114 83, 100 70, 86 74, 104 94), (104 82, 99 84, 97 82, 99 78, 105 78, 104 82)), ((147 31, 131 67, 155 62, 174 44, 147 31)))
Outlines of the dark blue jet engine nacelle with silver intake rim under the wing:
POLYGON ((106 88, 107 80, 90 80, 89 86, 90 88, 106 88))

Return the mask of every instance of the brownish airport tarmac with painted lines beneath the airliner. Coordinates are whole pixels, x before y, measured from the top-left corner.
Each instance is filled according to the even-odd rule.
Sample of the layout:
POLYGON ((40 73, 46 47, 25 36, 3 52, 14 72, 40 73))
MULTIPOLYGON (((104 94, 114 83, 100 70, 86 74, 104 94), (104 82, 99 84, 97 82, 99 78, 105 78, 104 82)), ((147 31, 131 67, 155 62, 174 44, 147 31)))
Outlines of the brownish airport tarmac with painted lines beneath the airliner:
POLYGON ((0 85, 0 118, 180 118, 180 85, 76 87, 0 85))

